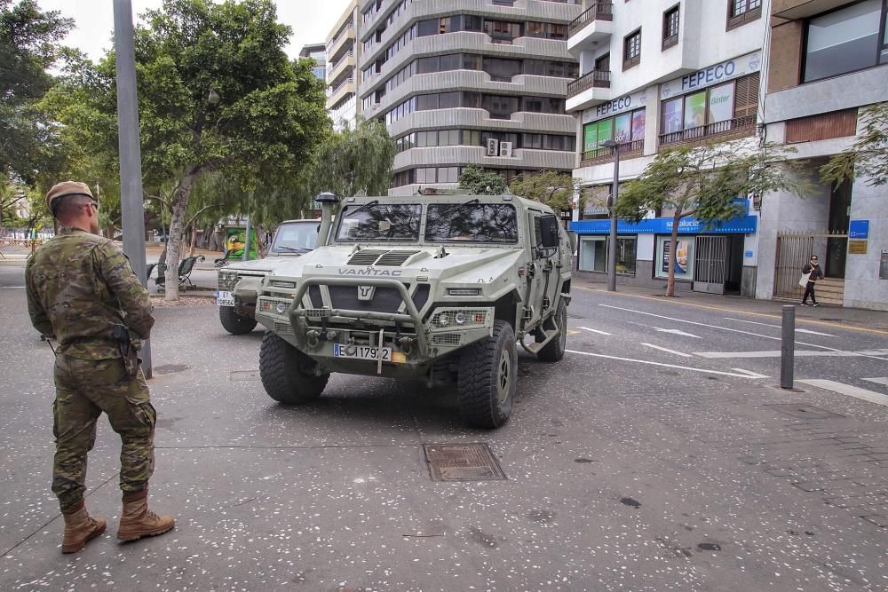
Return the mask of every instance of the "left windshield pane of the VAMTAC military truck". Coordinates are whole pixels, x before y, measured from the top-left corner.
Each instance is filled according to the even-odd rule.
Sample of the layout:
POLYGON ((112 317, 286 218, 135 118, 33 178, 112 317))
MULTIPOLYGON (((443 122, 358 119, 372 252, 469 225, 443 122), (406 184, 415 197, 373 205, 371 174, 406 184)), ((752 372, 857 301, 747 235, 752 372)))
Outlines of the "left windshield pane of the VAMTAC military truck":
POLYGON ((345 206, 339 215, 337 241, 418 241, 423 208, 418 204, 371 201, 345 206))

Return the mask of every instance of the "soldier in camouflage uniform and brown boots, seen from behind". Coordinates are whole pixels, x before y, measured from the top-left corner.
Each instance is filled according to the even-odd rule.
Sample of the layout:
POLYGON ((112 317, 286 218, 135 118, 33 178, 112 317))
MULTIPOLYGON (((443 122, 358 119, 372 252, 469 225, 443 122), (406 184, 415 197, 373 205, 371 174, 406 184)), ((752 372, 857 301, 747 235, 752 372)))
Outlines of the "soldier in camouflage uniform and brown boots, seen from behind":
POLYGON ((147 339, 155 323, 150 298, 123 251, 97 235, 99 204, 88 185, 59 183, 46 203, 61 228, 28 260, 25 274, 31 322, 59 343, 52 493, 65 517, 62 552, 79 551, 105 531, 105 520, 90 517, 83 503, 86 457, 103 412, 122 441, 117 538, 166 533, 174 519, 147 509, 156 415, 132 344, 147 339))

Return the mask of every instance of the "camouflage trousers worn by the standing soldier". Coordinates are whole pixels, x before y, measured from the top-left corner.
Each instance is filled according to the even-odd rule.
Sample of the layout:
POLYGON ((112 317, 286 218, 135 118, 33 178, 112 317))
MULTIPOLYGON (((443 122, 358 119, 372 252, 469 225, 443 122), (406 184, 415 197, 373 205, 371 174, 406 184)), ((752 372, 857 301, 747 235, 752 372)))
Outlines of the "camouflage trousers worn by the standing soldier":
POLYGON ((52 432, 56 438, 52 493, 62 510, 83 500, 86 456, 96 443, 96 426, 104 412, 120 434, 120 488, 138 493, 155 469, 155 408, 145 376, 131 379, 123 359, 77 359, 60 354, 55 364, 56 399, 52 432))

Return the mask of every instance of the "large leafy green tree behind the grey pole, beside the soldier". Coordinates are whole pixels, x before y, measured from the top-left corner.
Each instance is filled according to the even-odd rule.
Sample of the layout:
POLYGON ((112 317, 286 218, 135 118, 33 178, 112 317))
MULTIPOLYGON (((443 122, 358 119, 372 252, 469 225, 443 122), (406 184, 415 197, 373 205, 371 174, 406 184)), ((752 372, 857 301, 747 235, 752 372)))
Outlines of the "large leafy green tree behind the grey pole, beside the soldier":
MULTIPOLYGON (((142 172, 149 194, 170 187, 166 298, 197 181, 216 171, 247 192, 296 178, 329 130, 323 83, 290 62, 289 27, 271 0, 164 0, 136 31, 142 172)), ((115 56, 69 68, 54 113, 91 151, 116 154, 115 56)))

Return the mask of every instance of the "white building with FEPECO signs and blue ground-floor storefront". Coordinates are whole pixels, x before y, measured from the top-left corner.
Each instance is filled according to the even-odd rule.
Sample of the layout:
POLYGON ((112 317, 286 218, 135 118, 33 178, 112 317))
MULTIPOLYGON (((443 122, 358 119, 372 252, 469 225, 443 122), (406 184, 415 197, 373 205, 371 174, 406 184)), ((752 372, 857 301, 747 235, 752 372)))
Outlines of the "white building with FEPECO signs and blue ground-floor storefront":
MULTIPOLYGON (((567 89, 567 111, 576 116, 574 176, 583 180, 587 198, 571 224, 581 275, 607 273, 614 148, 605 142, 618 145, 624 182, 670 146, 757 141, 766 26, 763 0, 583 0, 567 39, 580 61, 580 76, 567 89)), ((664 283, 671 217, 660 215, 620 222, 618 282, 664 283)), ((683 220, 678 287, 752 296, 757 223, 755 211, 718 229, 683 220)))

